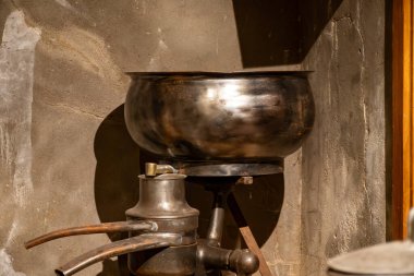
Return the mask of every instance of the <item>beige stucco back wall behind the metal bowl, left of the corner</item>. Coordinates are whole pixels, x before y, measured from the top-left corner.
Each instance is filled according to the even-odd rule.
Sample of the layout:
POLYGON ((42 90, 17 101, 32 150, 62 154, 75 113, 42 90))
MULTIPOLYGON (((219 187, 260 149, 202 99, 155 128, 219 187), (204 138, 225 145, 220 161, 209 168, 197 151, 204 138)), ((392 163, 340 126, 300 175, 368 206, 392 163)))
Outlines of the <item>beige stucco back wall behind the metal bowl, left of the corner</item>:
MULTIPOLYGON (((123 220, 136 202, 139 151, 123 121, 123 72, 242 70, 232 2, 3 0, 0 29, 0 275, 53 275, 121 237, 66 238, 29 251, 25 240, 123 220)), ((299 156, 287 160, 284 178, 236 191, 277 275, 300 268, 299 156)), ((196 188, 188 197, 205 227, 210 199, 196 188)), ((230 217, 227 240, 240 244, 230 217)), ((78 275, 127 275, 124 267, 124 259, 109 260, 78 275)))

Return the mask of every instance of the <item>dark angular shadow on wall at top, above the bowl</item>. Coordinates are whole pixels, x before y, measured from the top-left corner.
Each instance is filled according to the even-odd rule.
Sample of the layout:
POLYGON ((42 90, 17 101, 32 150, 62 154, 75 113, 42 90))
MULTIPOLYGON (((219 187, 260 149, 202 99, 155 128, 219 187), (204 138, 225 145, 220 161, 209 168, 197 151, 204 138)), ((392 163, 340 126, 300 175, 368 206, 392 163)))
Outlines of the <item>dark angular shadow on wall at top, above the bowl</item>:
POLYGON ((343 0, 233 0, 244 68, 301 63, 343 0))

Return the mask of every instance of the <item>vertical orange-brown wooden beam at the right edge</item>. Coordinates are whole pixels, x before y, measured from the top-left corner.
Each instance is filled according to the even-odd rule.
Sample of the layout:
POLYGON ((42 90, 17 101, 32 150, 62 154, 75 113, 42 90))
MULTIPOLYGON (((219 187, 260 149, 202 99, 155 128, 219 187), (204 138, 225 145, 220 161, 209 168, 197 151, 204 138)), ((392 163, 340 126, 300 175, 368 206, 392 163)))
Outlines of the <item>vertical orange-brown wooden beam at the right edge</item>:
POLYGON ((392 237, 406 237, 414 203, 413 1, 392 4, 392 237))

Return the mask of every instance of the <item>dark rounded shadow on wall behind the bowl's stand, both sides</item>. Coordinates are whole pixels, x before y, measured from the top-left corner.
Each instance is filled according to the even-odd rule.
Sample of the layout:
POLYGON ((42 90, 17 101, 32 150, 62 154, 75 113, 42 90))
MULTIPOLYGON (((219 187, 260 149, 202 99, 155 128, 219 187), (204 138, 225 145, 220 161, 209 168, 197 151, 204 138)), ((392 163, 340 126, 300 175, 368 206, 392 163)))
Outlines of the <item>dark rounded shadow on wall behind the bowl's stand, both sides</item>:
MULTIPOLYGON (((159 158, 138 146, 127 133, 124 120, 124 106, 110 112, 99 125, 94 143, 97 160, 95 172, 95 202, 102 223, 125 220, 125 211, 138 200, 139 171, 146 161, 159 158)), ((273 175, 255 179, 253 185, 236 185, 235 197, 249 224, 259 245, 263 245, 273 232, 283 203, 283 175, 273 175)), ((199 184, 186 183, 190 205, 200 211, 198 232, 205 237, 210 217, 212 196, 199 184)), ((109 235, 120 240, 126 235, 109 235)), ((224 248, 243 247, 239 229, 230 213, 226 217, 223 233, 224 248)), ((97 276, 130 276, 126 255, 118 261, 104 262, 102 272, 97 276)))

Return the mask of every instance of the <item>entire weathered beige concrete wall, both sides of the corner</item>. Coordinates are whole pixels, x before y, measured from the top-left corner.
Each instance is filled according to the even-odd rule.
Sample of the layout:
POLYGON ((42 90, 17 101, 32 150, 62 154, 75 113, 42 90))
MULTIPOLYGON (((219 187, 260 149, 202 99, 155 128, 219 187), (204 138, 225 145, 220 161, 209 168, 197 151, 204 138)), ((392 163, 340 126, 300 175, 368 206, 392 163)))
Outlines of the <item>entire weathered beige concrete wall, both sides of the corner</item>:
MULTIPOLYGON (((303 149, 287 158, 284 176, 238 188, 275 275, 309 275, 327 255, 383 239, 377 230, 385 229, 378 96, 383 10, 376 3, 344 1, 336 16, 351 14, 352 21, 329 23, 305 60, 303 68, 316 71, 317 121, 303 149), (342 100, 352 101, 340 106, 342 100), (338 212, 337 199, 344 204, 338 212)), ((0 29, 0 276, 53 275, 72 257, 122 237, 68 238, 31 251, 25 240, 57 228, 123 220, 137 200, 139 149, 123 120, 123 72, 242 70, 233 5, 3 0, 0 29)), ((209 197, 191 187, 188 201, 202 211, 203 233, 209 197)), ((241 244, 231 218, 226 243, 241 244)), ((125 260, 80 275, 127 275, 125 260)))

